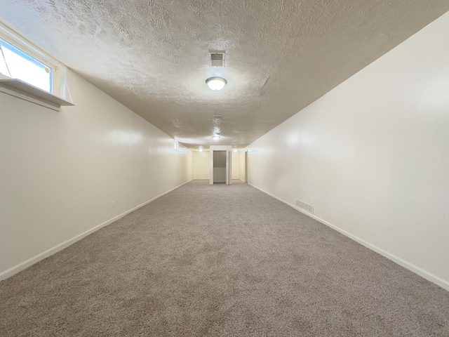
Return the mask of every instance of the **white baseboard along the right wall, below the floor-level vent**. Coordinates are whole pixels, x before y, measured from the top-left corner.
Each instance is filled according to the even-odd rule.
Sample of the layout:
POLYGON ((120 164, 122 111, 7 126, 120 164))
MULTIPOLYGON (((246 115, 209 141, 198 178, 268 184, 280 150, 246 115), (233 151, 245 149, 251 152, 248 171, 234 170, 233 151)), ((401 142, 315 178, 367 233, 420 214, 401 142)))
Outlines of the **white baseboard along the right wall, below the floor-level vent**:
POLYGON ((298 208, 297 206, 290 204, 289 202, 276 197, 274 194, 271 194, 267 191, 262 190, 261 188, 248 183, 248 185, 253 186, 255 189, 260 190, 260 192, 264 192, 265 194, 268 194, 270 197, 273 197, 274 199, 277 199, 284 204, 287 204, 288 206, 292 207, 296 211, 300 211, 301 213, 305 214, 306 216, 309 216, 310 218, 313 218, 320 223, 323 223, 324 225, 332 228, 333 230, 336 230, 337 232, 342 233, 344 236, 349 237, 349 239, 353 239, 354 241, 358 242, 359 244, 362 244, 363 246, 366 246, 366 248, 371 249, 372 251, 375 251, 376 253, 380 253, 380 255, 388 258, 389 260, 392 260, 394 263, 397 263, 398 265, 401 265, 401 267, 404 267, 412 272, 415 272, 415 274, 420 275, 421 277, 424 277, 424 279, 429 280, 430 282, 433 282, 434 284, 441 286, 441 288, 449 291, 449 282, 445 279, 442 279, 441 277, 438 277, 436 275, 431 274, 430 272, 427 272, 427 270, 424 270, 420 267, 417 267, 416 265, 413 265, 413 263, 409 263, 406 260, 403 260, 402 258, 398 258, 398 256, 395 256, 392 253, 389 253, 388 251, 384 251, 384 249, 381 249, 374 244, 370 244, 369 242, 366 242, 365 240, 356 237, 355 235, 347 232, 346 230, 342 230, 340 227, 337 227, 331 223, 328 223, 326 220, 323 220, 317 216, 314 216, 313 214, 307 213, 305 211, 302 211, 302 209, 298 208))

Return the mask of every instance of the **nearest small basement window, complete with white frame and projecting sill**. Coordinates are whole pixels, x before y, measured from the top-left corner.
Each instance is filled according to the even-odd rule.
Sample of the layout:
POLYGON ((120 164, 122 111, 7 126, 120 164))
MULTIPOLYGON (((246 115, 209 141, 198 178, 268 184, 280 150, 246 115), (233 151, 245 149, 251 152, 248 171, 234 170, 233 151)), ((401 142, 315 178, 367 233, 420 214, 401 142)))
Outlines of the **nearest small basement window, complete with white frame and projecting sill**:
POLYGON ((0 92, 60 111, 70 92, 66 67, 0 24, 0 92))

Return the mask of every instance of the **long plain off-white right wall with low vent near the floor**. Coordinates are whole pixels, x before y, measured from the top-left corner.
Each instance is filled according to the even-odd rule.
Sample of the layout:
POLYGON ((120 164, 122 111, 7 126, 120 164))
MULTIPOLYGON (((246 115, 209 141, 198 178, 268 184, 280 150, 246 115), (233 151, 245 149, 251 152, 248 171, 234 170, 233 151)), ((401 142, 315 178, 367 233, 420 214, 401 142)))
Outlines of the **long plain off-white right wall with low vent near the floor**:
POLYGON ((249 145, 249 183, 449 290, 449 13, 249 145))

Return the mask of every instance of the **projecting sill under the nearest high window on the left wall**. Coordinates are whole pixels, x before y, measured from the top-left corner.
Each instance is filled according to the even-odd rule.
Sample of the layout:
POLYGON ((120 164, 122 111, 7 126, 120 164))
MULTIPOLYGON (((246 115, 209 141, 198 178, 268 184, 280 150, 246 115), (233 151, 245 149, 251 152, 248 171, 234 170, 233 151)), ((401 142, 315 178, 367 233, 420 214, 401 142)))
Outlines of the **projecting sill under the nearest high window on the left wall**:
POLYGON ((74 105, 20 79, 0 79, 0 91, 56 111, 60 111, 61 106, 74 105))

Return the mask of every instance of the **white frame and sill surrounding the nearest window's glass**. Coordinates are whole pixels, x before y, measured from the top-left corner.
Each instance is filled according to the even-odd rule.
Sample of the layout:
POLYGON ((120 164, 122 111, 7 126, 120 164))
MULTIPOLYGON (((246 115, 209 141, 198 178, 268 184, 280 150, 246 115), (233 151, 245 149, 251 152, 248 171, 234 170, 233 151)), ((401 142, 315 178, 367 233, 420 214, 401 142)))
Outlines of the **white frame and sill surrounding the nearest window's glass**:
MULTIPOLYGON (((73 105, 70 102, 72 100, 71 97, 69 98, 69 100, 67 100, 67 92, 69 93, 69 91, 66 82, 67 67, 65 67, 65 65, 63 65, 55 58, 52 58, 47 53, 41 51, 31 42, 27 41, 27 39, 21 37, 19 34, 15 33, 12 29, 6 27, 6 25, 2 24, 1 22, 0 37, 1 39, 7 41, 9 44, 12 44, 16 48, 19 48, 24 53, 27 53, 33 58, 36 58, 36 60, 39 60, 51 67, 51 81, 53 92, 48 93, 25 82, 19 83, 18 85, 5 83, 6 87, 2 86, 1 91, 3 91, 4 93, 8 93, 9 95, 14 95, 21 99, 29 100, 29 102, 32 103, 48 106, 51 109, 58 111, 60 110, 60 105, 73 105), (47 104, 48 102, 50 104, 47 104)), ((11 77, 0 74, 0 79, 6 80, 11 79, 11 77)))

